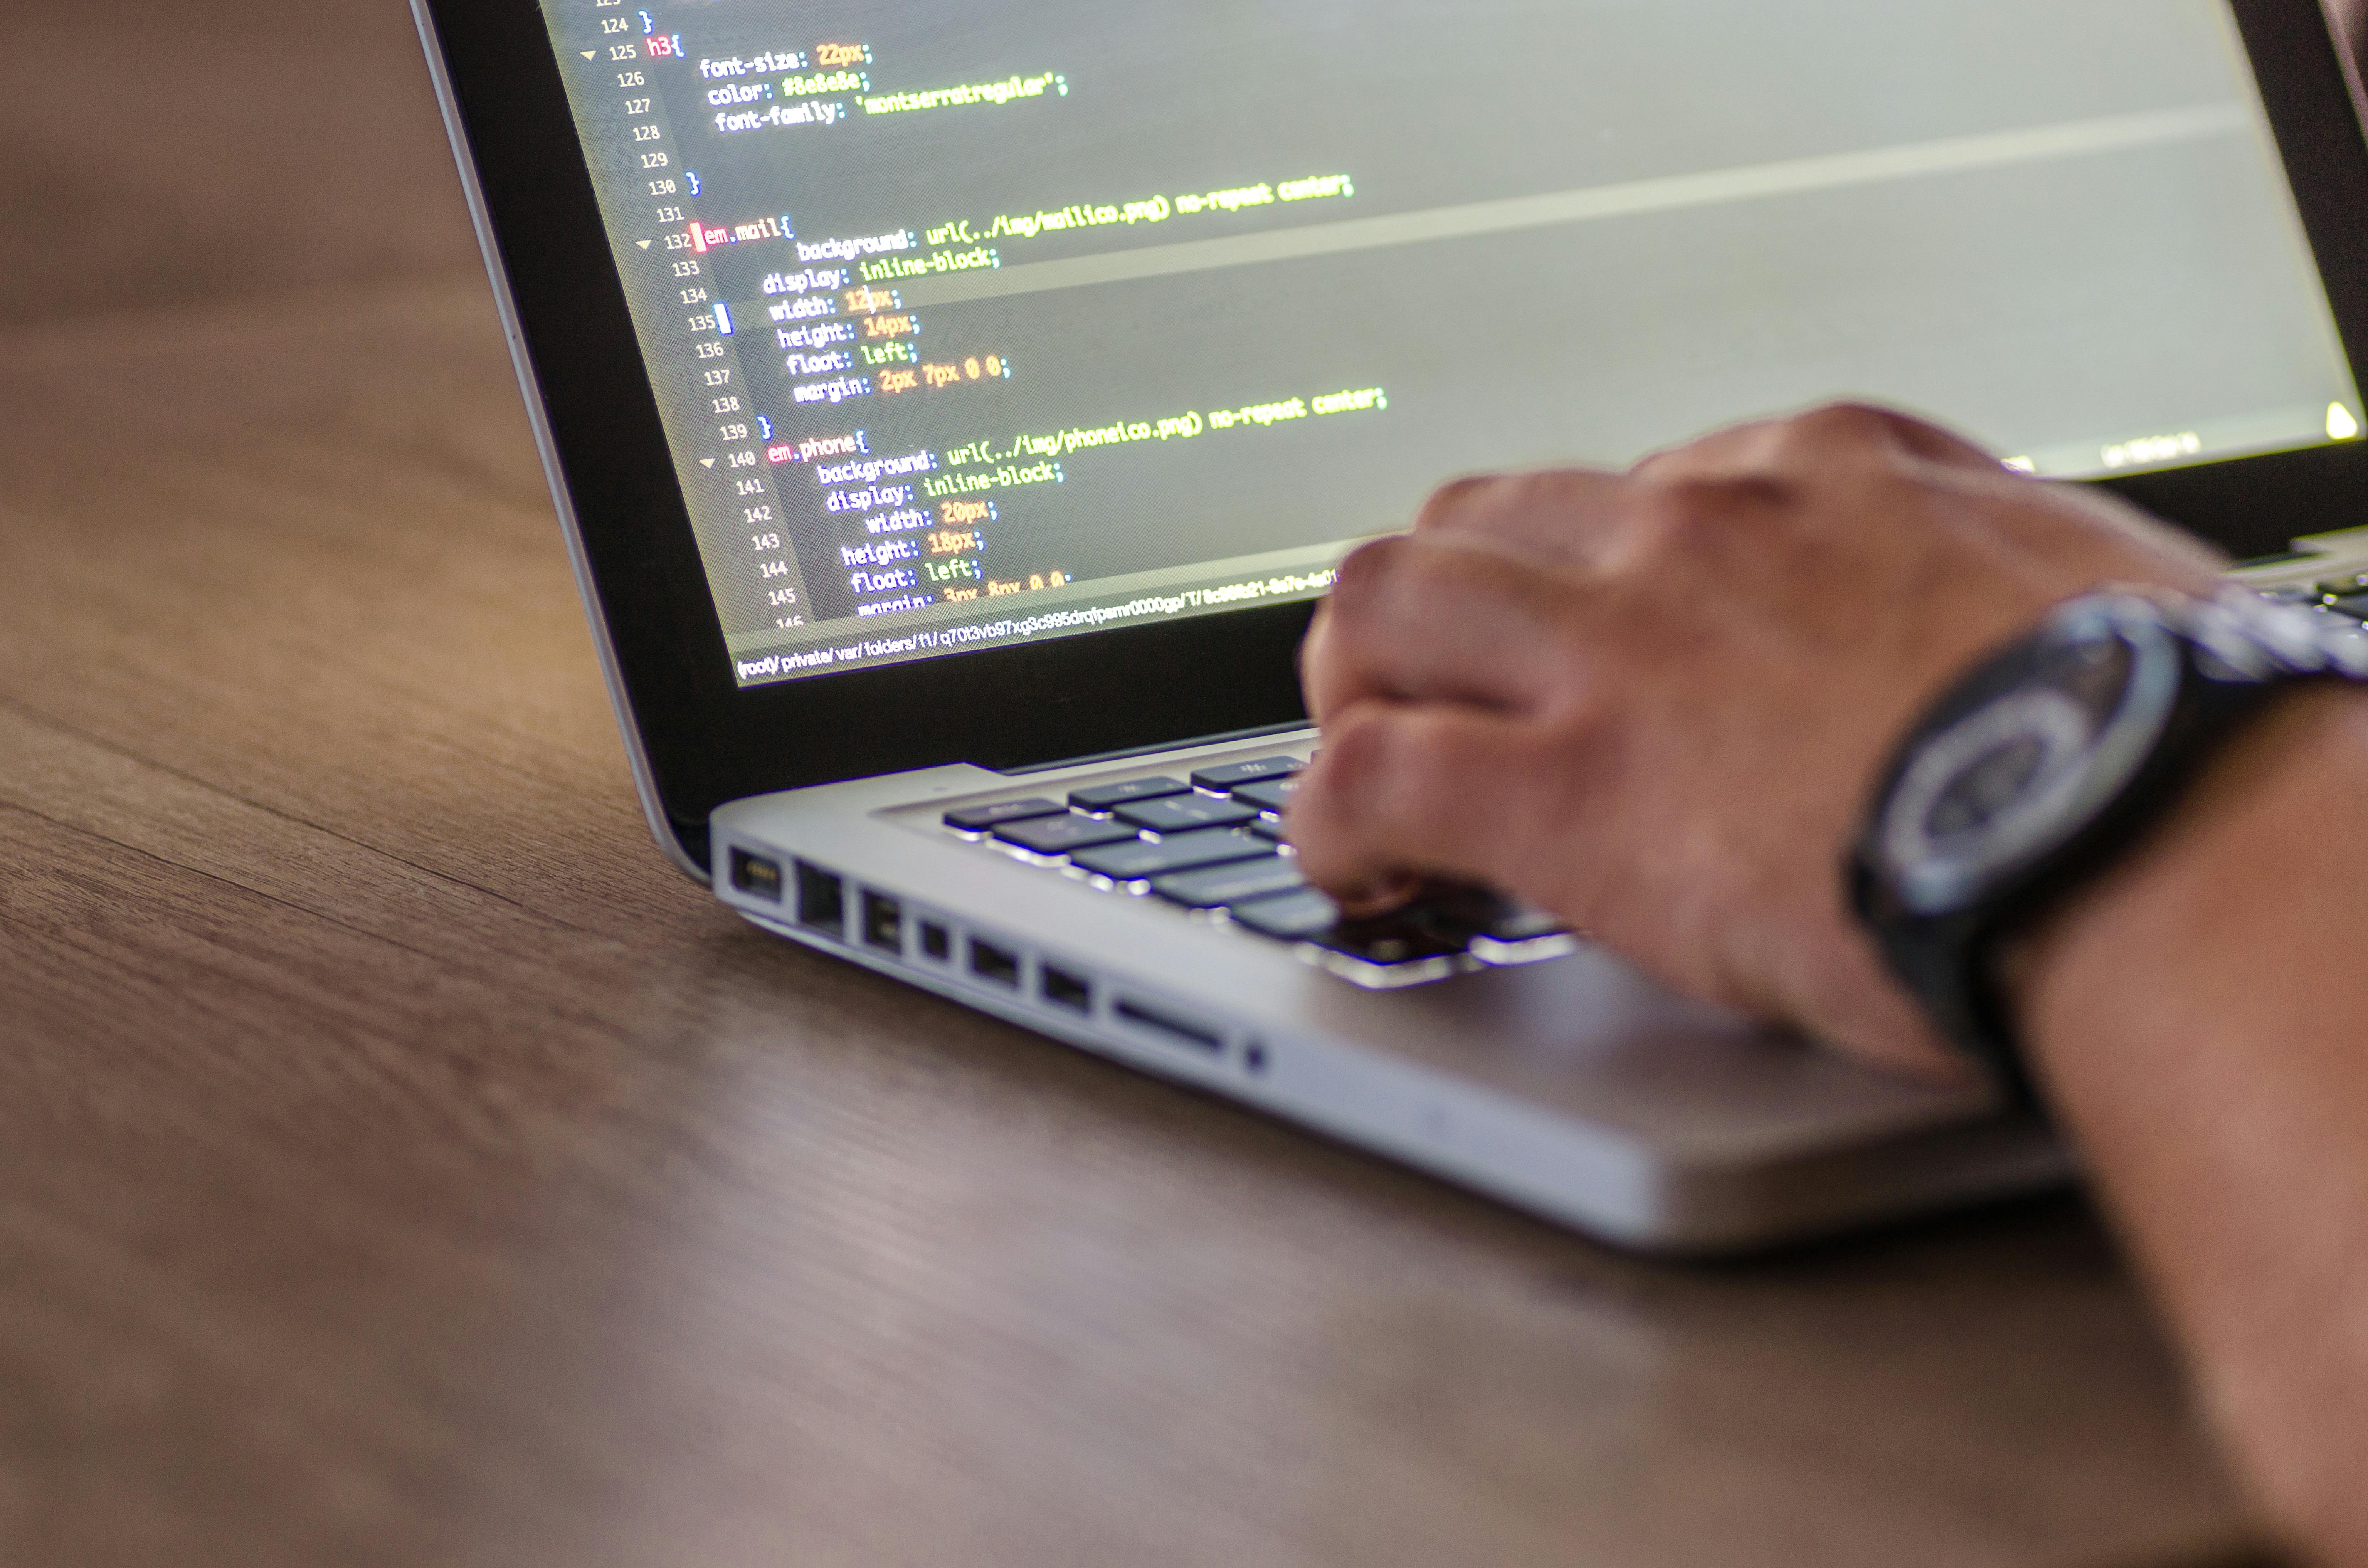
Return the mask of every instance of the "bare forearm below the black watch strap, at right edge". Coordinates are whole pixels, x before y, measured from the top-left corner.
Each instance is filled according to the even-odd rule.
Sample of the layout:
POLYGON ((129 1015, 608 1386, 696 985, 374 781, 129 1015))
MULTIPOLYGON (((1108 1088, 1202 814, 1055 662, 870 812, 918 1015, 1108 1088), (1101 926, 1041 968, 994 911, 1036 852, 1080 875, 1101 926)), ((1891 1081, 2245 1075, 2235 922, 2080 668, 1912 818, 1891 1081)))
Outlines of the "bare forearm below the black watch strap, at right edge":
POLYGON ((2368 1563, 2368 696, 2287 703, 2025 952, 2034 1066, 2264 1499, 2368 1563))

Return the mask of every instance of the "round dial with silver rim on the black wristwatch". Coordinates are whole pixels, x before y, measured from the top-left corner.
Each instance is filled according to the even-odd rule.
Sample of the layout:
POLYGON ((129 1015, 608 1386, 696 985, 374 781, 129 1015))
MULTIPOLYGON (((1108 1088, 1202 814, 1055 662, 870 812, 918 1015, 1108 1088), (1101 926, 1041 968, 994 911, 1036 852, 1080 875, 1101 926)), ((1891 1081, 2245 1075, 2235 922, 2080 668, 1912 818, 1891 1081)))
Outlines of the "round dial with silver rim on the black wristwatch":
POLYGON ((2079 834, 2145 765, 2181 654, 2153 606, 2089 602, 1963 689, 1911 746, 1878 817, 1885 881, 1949 914, 2079 834))

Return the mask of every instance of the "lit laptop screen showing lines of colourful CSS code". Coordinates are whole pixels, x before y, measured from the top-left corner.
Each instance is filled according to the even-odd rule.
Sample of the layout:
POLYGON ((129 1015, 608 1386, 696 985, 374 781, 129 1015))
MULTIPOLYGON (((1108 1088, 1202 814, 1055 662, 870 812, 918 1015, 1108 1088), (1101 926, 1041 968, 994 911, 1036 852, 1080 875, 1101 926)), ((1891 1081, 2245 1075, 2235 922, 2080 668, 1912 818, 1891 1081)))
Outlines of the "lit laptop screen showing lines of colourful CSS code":
POLYGON ((2216 0, 542 5, 741 685, 1835 396, 2044 476, 2361 433, 2216 0))

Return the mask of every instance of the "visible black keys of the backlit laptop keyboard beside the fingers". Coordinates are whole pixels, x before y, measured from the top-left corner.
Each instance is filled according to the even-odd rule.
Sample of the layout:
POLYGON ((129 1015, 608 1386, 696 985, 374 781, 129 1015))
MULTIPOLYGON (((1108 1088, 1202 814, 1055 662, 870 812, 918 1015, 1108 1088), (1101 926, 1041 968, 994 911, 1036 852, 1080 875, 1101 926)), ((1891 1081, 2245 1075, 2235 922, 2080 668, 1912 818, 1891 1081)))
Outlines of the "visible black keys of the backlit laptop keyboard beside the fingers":
POLYGON ((1357 985, 1388 990, 1577 950, 1551 914, 1480 888, 1440 891, 1383 919, 1343 919, 1283 841, 1298 756, 1125 779, 945 812, 945 827, 1103 893, 1158 898, 1250 940, 1286 943, 1357 985))

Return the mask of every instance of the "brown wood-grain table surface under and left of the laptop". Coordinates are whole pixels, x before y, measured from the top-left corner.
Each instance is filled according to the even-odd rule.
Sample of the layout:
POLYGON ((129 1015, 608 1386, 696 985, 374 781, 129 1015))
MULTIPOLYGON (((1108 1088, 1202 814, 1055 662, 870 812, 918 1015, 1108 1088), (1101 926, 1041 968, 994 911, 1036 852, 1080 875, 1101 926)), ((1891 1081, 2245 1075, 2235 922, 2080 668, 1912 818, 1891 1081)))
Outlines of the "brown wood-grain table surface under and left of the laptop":
POLYGON ((0 45, 0 1561, 2245 1559, 2072 1199, 1639 1265, 727 917, 403 7, 0 45))

